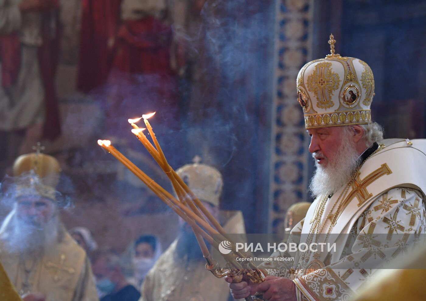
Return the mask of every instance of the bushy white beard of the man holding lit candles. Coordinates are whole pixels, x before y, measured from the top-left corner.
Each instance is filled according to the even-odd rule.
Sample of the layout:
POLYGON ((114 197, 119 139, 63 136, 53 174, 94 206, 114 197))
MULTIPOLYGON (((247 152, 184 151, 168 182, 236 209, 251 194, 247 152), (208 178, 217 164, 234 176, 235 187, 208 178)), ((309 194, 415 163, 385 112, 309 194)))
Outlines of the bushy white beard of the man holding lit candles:
MULTIPOLYGON (((321 152, 313 153, 312 156, 315 159, 315 155, 319 156, 319 154, 324 157, 321 152)), ((330 162, 328 158, 326 160, 328 164, 323 167, 315 159, 316 169, 309 184, 309 190, 315 198, 325 195, 325 193, 335 193, 343 185, 348 184, 351 176, 361 163, 361 157, 349 140, 347 133, 343 133, 342 142, 333 161, 330 162)))

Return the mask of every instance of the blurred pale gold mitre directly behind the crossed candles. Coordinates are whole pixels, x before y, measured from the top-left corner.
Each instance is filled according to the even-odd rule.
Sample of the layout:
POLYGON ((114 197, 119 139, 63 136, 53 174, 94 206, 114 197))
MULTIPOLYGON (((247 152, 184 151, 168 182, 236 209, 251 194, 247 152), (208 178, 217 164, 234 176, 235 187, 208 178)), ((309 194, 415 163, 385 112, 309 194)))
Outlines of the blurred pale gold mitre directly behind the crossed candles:
POLYGON ((200 164, 197 159, 194 161, 196 163, 184 165, 176 173, 201 201, 219 206, 223 187, 222 174, 212 166, 200 164))

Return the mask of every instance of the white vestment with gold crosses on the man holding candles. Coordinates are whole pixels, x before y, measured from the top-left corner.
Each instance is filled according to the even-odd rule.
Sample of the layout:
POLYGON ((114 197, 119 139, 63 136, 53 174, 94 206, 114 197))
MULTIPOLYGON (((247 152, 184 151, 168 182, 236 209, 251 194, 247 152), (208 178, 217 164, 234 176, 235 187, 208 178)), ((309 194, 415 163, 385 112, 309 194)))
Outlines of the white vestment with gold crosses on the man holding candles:
POLYGON ((294 257, 294 261, 265 262, 260 267, 269 275, 294 279, 298 300, 348 300, 374 278, 377 268, 410 254, 420 234, 425 233, 426 224, 426 140, 412 143, 409 146, 399 140, 374 153, 342 199, 339 197, 345 187, 326 198, 320 220, 320 225, 325 225, 322 235, 308 233, 326 196, 312 203, 288 240, 299 245, 319 243, 324 241, 325 233, 330 233, 326 242, 336 243, 335 250, 276 252, 273 257, 294 257), (339 204, 336 224, 329 227, 331 220, 325 219, 331 209, 336 212, 339 204))

